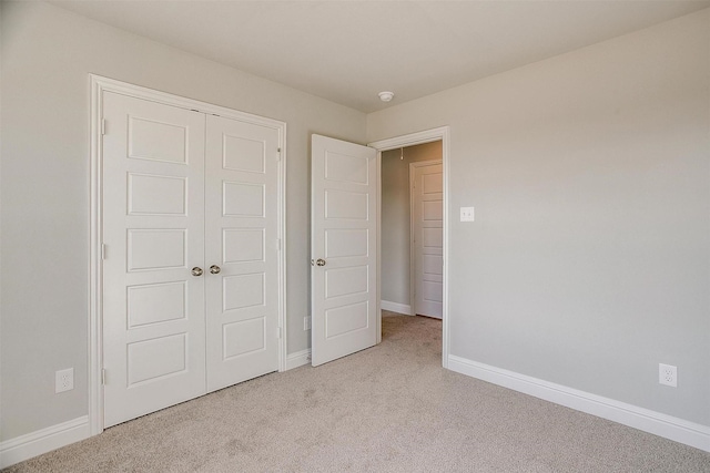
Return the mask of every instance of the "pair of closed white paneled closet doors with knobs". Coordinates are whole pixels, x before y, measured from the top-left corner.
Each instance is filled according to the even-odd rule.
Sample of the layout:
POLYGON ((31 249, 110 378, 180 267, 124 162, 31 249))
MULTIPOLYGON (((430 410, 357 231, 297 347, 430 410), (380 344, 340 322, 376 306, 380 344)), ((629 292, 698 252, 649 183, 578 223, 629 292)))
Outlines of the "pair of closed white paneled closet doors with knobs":
POLYGON ((104 426, 278 369, 280 131, 103 94, 104 426))

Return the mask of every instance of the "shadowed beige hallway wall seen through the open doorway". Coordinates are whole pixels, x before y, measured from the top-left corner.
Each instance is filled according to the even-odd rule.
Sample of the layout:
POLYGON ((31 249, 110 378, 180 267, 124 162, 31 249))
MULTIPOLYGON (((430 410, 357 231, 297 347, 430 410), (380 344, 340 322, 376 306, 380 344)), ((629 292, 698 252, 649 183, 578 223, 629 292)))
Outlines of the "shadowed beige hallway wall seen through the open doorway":
POLYGON ((382 299, 410 306, 409 164, 442 160, 442 142, 382 154, 382 299))

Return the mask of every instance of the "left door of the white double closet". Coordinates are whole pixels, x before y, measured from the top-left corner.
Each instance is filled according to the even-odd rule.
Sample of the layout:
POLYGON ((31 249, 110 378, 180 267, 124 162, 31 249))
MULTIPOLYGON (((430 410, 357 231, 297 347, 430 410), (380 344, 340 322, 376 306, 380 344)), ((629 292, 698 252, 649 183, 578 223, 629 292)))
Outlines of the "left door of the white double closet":
POLYGON ((205 115, 103 95, 104 426, 204 393, 205 115), (195 269, 195 274, 199 270, 195 269))

